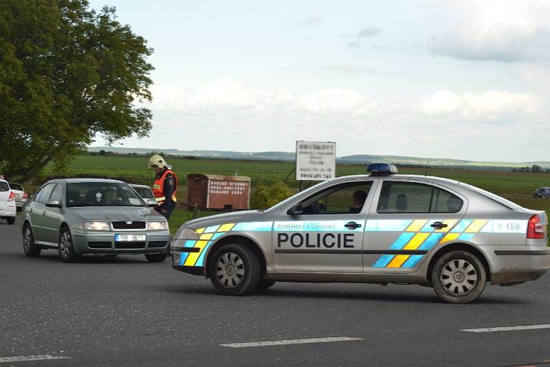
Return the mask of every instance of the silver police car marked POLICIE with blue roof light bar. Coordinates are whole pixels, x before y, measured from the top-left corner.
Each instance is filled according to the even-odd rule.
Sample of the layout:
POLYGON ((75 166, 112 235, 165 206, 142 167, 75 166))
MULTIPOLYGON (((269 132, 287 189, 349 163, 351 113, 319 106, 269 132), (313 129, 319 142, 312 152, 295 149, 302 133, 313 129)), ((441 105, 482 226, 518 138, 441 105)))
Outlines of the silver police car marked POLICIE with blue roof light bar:
POLYGON ((432 287, 472 302, 486 282, 517 285, 550 268, 547 216, 459 181, 371 175, 318 183, 274 207, 182 225, 174 269, 241 295, 275 282, 357 282, 432 287))

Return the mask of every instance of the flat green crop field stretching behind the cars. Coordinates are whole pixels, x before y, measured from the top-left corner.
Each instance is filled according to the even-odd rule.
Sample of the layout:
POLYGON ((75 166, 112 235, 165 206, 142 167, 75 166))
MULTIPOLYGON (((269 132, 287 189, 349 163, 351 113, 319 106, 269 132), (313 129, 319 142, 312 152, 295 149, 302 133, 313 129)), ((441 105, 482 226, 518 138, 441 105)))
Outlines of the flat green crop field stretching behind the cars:
MULTIPOLYGON (((48 166, 41 178, 30 186, 30 192, 40 181, 50 177, 109 177, 122 179, 131 183, 143 183, 151 185, 153 182, 153 170, 147 168, 146 157, 79 155, 67 167, 64 173, 58 174, 52 166, 48 166)), ((259 162, 237 161, 230 159, 168 159, 173 165, 173 170, 179 177, 180 188, 178 190, 179 202, 186 198, 186 175, 189 173, 203 173, 211 175, 234 175, 239 171, 239 176, 248 176, 252 179, 252 190, 259 184, 269 184, 287 178, 294 164, 290 162, 259 162)), ((338 176, 364 174, 364 165, 338 165, 338 176)), ((424 168, 400 168, 399 173, 424 175, 424 168)), ((525 208, 546 210, 550 213, 550 200, 533 199, 533 190, 540 186, 550 186, 550 174, 548 173, 512 173, 493 170, 461 170, 448 168, 428 168, 428 175, 456 179, 470 183, 485 190, 489 190, 502 197, 510 199, 525 208)), ((294 173, 287 179, 291 188, 298 188, 298 182, 294 180, 294 173)), ((303 183, 304 187, 309 183, 303 183)), ((214 214, 213 212, 200 212, 199 216, 214 214)), ((192 212, 180 208, 170 219, 170 227, 175 230, 181 223, 191 219, 192 212)))

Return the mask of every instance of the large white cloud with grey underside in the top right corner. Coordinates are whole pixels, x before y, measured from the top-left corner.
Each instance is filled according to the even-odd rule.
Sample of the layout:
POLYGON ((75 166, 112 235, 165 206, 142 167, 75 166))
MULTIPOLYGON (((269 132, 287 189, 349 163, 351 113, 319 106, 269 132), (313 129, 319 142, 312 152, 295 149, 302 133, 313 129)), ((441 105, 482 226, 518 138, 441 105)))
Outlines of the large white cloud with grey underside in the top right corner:
POLYGON ((434 54, 503 62, 550 58, 550 1, 439 1, 461 21, 434 37, 434 54))

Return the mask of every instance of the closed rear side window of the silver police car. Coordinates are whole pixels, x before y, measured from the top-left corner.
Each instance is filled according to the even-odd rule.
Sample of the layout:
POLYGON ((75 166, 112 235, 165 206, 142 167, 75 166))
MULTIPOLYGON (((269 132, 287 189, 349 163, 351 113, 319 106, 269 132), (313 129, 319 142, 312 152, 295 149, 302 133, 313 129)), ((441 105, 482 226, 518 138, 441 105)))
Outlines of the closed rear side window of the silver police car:
POLYGON ((463 201, 448 191, 423 183, 384 181, 379 213, 456 213, 463 201))

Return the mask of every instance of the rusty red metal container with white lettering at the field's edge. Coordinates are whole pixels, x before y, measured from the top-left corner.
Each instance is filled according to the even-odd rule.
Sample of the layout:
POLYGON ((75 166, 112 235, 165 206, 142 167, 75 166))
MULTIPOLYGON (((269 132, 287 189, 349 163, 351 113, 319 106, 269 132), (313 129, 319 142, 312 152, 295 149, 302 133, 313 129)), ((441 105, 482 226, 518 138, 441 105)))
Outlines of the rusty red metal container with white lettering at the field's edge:
POLYGON ((205 209, 245 210, 250 203, 250 177, 187 175, 187 205, 205 209))

